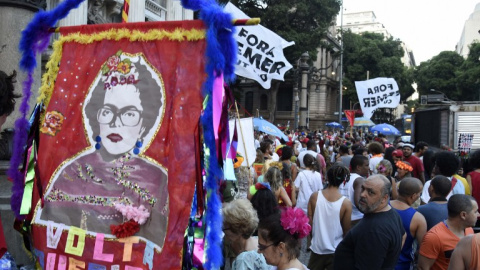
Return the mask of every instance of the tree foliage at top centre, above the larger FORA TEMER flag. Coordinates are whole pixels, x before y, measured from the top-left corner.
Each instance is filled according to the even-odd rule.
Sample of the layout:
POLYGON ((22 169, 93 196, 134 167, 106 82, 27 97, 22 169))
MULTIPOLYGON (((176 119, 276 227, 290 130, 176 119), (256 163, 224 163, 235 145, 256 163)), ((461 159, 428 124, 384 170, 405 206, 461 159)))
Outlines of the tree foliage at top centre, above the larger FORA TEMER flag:
MULTIPOLYGON (((228 1, 221 0, 226 3, 228 1)), ((295 45, 285 48, 285 57, 294 63, 308 51, 315 60, 317 48, 340 10, 339 0, 232 0, 250 17, 295 45)))

